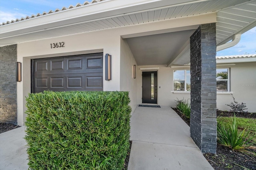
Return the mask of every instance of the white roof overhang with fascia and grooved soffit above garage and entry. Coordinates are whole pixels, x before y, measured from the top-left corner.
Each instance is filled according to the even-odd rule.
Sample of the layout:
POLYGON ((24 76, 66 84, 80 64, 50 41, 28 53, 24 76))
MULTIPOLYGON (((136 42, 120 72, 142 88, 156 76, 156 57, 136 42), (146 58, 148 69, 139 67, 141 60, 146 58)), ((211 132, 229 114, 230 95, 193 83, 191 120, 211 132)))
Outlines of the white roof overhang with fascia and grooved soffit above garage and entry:
POLYGON ((220 23, 217 22, 216 30, 217 43, 220 43, 252 22, 255 22, 255 1, 106 0, 2 25, 0 26, 0 46, 101 29, 184 18, 216 11, 220 13, 217 13, 217 20, 220 23), (239 6, 239 4, 242 5, 239 6), (230 8, 232 6, 234 8, 230 8), (83 12, 84 16, 82 16, 83 12), (62 18, 62 20, 54 21, 56 16, 62 18), (51 23, 42 25, 40 21, 44 21, 44 18, 49 18, 51 23), (30 26, 27 27, 26 23, 30 23, 28 24, 30 26), (38 23, 38 25, 33 25, 33 23, 38 23), (19 25, 23 25, 24 28, 20 29, 19 25), (13 29, 14 27, 16 29, 13 29))

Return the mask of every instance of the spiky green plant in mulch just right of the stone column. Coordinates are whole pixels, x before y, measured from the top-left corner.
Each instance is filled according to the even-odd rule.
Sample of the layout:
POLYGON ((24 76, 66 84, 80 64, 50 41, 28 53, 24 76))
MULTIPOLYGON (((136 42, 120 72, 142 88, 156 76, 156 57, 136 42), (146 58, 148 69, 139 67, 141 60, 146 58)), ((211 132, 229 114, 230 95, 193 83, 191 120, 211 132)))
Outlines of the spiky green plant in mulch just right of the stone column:
POLYGON ((217 131, 218 143, 220 145, 250 154, 252 154, 252 152, 246 149, 256 149, 256 147, 252 146, 255 142, 250 143, 255 136, 249 139, 247 138, 250 131, 245 133, 244 129, 242 132, 238 133, 238 125, 236 123, 235 115, 234 119, 232 118, 232 125, 229 124, 228 128, 226 128, 224 124, 218 124, 217 131))

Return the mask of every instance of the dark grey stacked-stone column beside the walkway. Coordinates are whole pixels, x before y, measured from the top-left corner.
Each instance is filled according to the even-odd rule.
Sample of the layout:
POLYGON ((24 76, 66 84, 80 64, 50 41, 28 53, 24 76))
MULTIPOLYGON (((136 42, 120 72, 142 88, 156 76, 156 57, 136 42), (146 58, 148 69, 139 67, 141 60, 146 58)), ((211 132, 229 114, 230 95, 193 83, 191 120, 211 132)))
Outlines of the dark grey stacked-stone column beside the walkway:
POLYGON ((216 23, 190 37, 190 135, 202 152, 216 153, 216 23))

